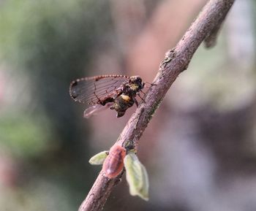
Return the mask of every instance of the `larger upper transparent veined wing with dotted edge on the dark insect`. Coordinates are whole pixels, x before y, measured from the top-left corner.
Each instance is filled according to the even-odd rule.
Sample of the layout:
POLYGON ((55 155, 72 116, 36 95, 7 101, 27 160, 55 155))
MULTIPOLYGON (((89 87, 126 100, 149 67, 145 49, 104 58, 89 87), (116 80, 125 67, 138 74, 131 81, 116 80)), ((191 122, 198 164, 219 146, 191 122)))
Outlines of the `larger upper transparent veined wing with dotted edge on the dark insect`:
POLYGON ((121 85, 129 80, 124 75, 102 75, 74 80, 69 87, 72 99, 84 104, 106 104, 121 92, 121 85))

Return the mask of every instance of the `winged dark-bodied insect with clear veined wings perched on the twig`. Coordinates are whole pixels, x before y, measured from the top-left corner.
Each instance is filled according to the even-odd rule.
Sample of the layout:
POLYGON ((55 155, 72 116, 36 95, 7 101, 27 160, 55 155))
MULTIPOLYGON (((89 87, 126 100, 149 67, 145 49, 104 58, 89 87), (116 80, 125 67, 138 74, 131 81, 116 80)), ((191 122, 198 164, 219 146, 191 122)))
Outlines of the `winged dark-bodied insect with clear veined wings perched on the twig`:
POLYGON ((120 118, 133 104, 138 106, 135 97, 140 97, 144 85, 139 76, 99 75, 72 81, 69 94, 75 101, 89 104, 84 112, 85 118, 107 108, 116 110, 116 117, 120 118))

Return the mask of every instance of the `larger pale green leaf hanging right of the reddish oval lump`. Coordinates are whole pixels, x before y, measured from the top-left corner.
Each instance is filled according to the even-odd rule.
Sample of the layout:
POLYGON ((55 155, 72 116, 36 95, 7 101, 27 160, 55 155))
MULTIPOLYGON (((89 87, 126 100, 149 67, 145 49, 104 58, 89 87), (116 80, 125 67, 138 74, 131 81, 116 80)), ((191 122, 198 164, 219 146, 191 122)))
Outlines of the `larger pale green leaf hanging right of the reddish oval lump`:
POLYGON ((135 153, 129 152, 124 158, 129 193, 148 201, 148 173, 135 153))

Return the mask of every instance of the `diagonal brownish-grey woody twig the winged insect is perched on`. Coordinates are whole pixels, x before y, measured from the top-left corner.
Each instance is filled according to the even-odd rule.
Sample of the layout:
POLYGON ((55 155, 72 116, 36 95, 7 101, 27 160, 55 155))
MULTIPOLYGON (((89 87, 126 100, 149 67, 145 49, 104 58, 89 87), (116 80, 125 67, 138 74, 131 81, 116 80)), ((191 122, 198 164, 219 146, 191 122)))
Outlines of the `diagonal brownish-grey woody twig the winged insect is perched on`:
MULTIPOLYGON (((197 47, 206 37, 210 37, 212 33, 214 34, 216 28, 221 26, 234 1, 208 1, 208 4, 200 12, 200 15, 192 23, 192 26, 176 47, 165 54, 165 59, 161 62, 159 72, 153 82, 155 85, 152 85, 146 94, 146 103, 142 102, 139 105, 118 137, 116 144, 123 145, 124 142, 129 140, 134 143, 135 147, 138 146, 138 140, 159 107, 165 93, 176 80, 178 74, 187 69, 197 47)), ((88 196, 80 205, 79 211, 102 210, 110 192, 118 183, 120 177, 109 180, 104 177, 103 172, 100 172, 88 196)))

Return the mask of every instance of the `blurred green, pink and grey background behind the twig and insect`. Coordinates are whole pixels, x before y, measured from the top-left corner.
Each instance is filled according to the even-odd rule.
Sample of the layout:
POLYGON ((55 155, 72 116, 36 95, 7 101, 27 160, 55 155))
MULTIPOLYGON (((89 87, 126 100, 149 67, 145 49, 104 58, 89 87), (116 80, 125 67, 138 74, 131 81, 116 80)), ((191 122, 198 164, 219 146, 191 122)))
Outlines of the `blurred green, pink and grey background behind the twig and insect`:
MULTIPOLYGON (((1 211, 78 210, 100 171, 89 158, 113 145, 135 106, 83 119, 69 83, 151 83, 204 4, 0 0, 1 211)), ((253 0, 235 2, 217 46, 197 50, 144 132, 149 202, 123 178, 105 210, 256 210, 255 11, 253 0)))

